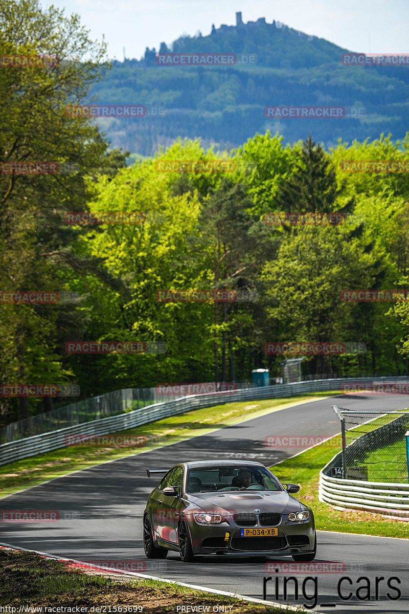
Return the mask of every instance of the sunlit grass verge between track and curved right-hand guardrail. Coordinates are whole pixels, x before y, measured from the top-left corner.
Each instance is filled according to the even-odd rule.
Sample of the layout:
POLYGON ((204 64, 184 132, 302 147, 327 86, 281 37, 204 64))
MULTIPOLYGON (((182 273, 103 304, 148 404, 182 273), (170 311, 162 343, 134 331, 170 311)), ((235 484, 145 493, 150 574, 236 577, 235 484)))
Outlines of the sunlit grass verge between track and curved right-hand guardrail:
POLYGON ((405 521, 384 519, 380 514, 366 511, 335 510, 332 505, 319 501, 319 472, 340 451, 339 439, 334 437, 270 469, 281 482, 299 484, 301 489, 295 496, 312 508, 318 530, 409 538, 409 523, 405 521))

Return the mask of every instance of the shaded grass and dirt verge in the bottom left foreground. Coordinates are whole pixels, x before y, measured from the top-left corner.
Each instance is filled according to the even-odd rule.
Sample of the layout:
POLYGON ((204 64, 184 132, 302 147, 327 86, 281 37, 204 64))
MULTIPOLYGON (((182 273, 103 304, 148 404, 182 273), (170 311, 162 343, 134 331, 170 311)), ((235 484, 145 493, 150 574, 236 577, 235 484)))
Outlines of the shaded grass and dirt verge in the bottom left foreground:
POLYGON ((104 606, 105 612, 126 612, 124 609, 118 609, 126 606, 128 612, 138 612, 139 607, 143 614, 167 614, 176 612, 178 605, 197 604, 210 606, 210 612, 215 605, 232 606, 231 612, 238 614, 285 611, 282 608, 251 604, 234 597, 172 585, 169 582, 142 578, 118 581, 109 577, 109 573, 95 574, 96 572, 84 573, 75 568, 70 569, 63 562, 45 559, 31 552, 0 550, 0 605, 16 607, 17 612, 21 605, 102 607, 99 612, 104 612, 104 606), (131 606, 133 609, 129 610, 131 606))

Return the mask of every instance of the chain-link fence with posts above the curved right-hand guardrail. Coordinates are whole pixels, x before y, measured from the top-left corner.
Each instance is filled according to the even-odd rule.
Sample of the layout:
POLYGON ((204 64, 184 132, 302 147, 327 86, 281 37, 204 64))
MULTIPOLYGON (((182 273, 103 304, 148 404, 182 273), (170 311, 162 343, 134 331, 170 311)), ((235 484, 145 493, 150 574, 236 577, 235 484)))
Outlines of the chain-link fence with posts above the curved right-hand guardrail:
MULTIPOLYGON (((408 483, 405 433, 409 411, 351 411, 333 406, 342 432, 342 467, 348 480, 408 483)), ((342 473, 342 475, 340 475, 342 473)))

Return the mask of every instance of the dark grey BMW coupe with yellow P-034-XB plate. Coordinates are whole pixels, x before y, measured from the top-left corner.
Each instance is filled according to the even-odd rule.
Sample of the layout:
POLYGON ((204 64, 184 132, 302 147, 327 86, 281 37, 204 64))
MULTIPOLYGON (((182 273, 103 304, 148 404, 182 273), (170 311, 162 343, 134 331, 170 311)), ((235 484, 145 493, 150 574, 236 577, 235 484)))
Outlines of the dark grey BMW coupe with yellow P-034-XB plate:
POLYGON ((266 467, 247 461, 195 461, 164 475, 143 512, 143 546, 148 559, 178 551, 184 562, 195 554, 292 556, 313 561, 316 532, 313 511, 266 467))

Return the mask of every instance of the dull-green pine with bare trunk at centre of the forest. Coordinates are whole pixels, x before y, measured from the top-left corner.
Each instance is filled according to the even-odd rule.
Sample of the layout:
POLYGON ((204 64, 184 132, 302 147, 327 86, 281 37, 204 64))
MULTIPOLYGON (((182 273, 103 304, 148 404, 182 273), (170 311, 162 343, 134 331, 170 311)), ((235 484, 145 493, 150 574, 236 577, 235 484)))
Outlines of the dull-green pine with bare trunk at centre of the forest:
MULTIPOLYGON (((191 256, 204 284, 215 289, 247 291, 249 295, 255 288, 259 263, 271 253, 271 246, 266 226, 258 216, 249 215, 249 209, 251 200, 245 185, 233 184, 227 179, 202 204, 198 220, 200 236, 194 238, 194 244, 191 241, 191 256)), ((239 303, 233 307, 215 301, 212 328, 215 381, 220 377, 220 344, 223 381, 227 378, 227 345, 229 371, 231 375, 235 373, 232 329, 236 329, 237 335, 240 316, 237 319, 236 316, 243 311, 246 308, 239 307, 239 303)))

